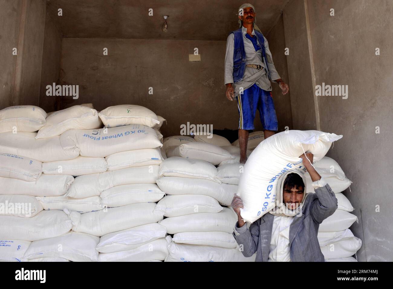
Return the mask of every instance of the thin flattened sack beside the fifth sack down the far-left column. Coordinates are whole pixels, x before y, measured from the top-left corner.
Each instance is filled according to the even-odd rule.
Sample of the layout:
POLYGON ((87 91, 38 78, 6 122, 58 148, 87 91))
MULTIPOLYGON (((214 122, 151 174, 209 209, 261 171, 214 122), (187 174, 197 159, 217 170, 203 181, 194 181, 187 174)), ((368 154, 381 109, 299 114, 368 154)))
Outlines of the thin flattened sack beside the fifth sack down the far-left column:
POLYGON ((64 210, 75 211, 78 213, 88 213, 98 211, 105 208, 105 205, 100 203, 99 196, 74 199, 66 196, 55 197, 37 197, 44 210, 64 210))

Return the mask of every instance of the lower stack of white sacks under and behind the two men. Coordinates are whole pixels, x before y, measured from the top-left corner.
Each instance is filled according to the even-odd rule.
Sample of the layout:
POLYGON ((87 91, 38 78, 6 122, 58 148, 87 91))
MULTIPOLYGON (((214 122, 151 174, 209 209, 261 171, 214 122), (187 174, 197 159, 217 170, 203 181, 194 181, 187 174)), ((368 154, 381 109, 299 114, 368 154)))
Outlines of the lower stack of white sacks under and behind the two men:
MULTIPOLYGON (((285 136, 285 135, 284 135, 285 136)), ((263 132, 249 136, 247 155, 263 141, 263 132)), ((237 192, 244 166, 239 163, 239 141, 219 135, 173 136, 163 139, 167 159, 160 165, 158 187, 166 196, 156 210, 164 213, 159 223, 173 234, 167 261, 253 261, 239 254, 231 232, 237 216, 228 206, 237 192), (226 207, 228 206, 228 207, 226 207)), ((336 161, 323 157, 314 163, 338 199, 338 209, 319 228, 318 240, 325 259, 356 262, 352 256, 362 241, 348 229, 357 217, 341 193, 351 181, 336 161)), ((307 172, 307 193, 314 193, 307 172)))

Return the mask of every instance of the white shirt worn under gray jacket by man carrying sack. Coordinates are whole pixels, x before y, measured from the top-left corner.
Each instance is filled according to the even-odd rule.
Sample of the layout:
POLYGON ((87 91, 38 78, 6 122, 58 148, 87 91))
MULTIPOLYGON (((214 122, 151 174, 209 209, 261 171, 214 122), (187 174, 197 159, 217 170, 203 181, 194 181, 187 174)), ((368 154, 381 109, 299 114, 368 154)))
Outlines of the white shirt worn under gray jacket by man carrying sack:
MULTIPOLYGON (((321 178, 318 181, 312 182, 312 187, 314 189, 321 188, 324 187, 326 184, 326 181, 321 178)), ((291 261, 289 248, 289 227, 292 224, 293 220, 294 217, 292 216, 274 216, 268 262, 291 261)), ((244 224, 241 228, 237 228, 235 226, 235 234, 241 234, 245 230, 247 230, 247 224, 244 224)))

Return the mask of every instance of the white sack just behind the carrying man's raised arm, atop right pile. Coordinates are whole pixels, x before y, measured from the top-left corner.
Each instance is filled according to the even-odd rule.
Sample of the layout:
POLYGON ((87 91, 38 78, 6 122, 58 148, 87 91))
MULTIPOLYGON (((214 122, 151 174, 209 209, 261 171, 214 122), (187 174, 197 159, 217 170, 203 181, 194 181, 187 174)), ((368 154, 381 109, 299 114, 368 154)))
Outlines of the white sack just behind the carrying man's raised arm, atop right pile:
MULTIPOLYGON (((347 179, 347 177, 345 177, 345 174, 338 163, 330 157, 323 157, 320 161, 314 163, 314 167, 318 174, 320 174, 320 176, 329 184, 334 193, 343 192, 352 183, 349 179, 347 179)), ((307 192, 314 192, 311 185, 312 180, 310 174, 306 172, 305 177, 307 181, 307 192)))

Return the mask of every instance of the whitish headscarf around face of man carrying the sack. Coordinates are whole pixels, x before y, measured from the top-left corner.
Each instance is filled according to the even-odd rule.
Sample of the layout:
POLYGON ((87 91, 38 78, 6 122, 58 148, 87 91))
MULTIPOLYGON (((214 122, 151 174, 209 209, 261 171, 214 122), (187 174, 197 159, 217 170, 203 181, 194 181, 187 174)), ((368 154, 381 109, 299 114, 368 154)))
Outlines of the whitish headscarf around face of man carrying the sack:
POLYGON ((307 196, 309 194, 306 194, 307 190, 306 190, 306 178, 305 176, 303 176, 303 174, 295 172, 295 171, 289 171, 286 172, 285 174, 281 175, 281 177, 278 180, 277 183, 277 192, 279 192, 279 196, 276 196, 276 205, 275 208, 270 210, 269 213, 275 216, 296 216, 297 214, 299 214, 299 212, 301 212, 301 210, 303 209, 303 204, 305 199, 307 198, 307 196), (284 191, 284 182, 286 177, 289 174, 298 174, 299 176, 301 176, 301 178, 303 179, 303 183, 304 183, 304 193, 303 193, 303 199, 302 201, 299 203, 299 206, 295 209, 295 210, 290 210, 286 207, 286 204, 284 204, 284 199, 283 199, 283 191, 284 191))

